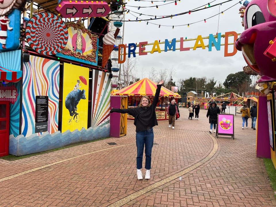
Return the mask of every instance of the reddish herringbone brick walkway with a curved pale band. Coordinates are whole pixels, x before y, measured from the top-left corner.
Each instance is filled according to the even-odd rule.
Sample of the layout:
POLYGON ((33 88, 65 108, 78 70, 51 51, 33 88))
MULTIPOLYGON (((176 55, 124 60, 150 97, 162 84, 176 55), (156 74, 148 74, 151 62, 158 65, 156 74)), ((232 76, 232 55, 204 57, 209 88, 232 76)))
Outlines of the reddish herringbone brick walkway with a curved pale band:
POLYGON ((188 120, 187 108, 180 108, 175 129, 158 122, 150 180, 136 177, 132 120, 121 138, 0 159, 0 206, 276 206, 263 161, 256 158, 251 119, 242 130, 235 116, 235 140, 217 139, 208 133, 206 112, 188 120))

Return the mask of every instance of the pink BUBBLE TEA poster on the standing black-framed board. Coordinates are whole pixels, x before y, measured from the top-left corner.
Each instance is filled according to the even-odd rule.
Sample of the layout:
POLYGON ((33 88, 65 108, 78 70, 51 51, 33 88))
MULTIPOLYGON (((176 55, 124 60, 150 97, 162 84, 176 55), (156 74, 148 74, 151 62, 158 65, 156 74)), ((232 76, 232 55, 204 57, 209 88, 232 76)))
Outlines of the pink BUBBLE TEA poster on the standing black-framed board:
POLYGON ((218 114, 218 133, 219 134, 234 134, 233 115, 218 114))

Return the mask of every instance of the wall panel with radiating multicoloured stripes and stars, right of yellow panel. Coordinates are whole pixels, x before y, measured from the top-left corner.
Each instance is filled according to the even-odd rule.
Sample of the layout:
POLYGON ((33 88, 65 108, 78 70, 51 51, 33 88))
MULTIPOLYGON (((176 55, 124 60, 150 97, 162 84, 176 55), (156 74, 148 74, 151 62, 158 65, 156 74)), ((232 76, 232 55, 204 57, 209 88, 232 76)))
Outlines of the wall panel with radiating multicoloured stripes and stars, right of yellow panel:
POLYGON ((102 127, 110 122, 110 88, 109 73, 93 70, 92 77, 92 120, 91 127, 102 127))

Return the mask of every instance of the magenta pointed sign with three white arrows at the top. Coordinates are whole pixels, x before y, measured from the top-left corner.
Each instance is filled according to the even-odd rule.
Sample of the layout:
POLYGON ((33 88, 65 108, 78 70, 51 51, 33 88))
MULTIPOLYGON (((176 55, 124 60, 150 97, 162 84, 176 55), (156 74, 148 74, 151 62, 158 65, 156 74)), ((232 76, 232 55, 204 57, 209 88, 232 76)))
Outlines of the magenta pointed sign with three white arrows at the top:
POLYGON ((63 18, 102 17, 111 11, 105 1, 68 1, 60 2, 55 10, 63 18))

